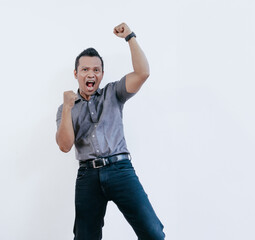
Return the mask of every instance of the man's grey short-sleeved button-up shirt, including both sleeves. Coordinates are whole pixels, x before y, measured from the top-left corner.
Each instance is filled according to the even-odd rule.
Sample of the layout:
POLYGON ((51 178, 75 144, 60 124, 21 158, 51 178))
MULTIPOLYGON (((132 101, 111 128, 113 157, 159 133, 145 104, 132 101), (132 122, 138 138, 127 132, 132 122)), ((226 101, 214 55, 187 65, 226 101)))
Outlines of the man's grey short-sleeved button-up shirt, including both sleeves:
MULTIPOLYGON (((108 83, 85 100, 78 99, 72 108, 77 160, 90 160, 119 153, 129 153, 123 131, 124 103, 134 95, 126 90, 126 76, 108 83)), ((57 112, 57 128, 61 122, 63 104, 57 112)))

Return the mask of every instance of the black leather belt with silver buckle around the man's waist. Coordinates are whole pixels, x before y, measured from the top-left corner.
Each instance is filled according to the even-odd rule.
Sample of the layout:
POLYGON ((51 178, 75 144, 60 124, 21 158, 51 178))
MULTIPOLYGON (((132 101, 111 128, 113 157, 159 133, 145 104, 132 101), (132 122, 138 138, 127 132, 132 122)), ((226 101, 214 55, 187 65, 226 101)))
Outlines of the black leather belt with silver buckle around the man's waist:
POLYGON ((102 157, 102 158, 96 158, 93 160, 87 160, 87 161, 80 161, 80 167, 85 168, 100 168, 104 167, 106 165, 109 165, 114 162, 118 162, 121 160, 131 160, 131 157, 129 154, 118 154, 110 157, 102 157))

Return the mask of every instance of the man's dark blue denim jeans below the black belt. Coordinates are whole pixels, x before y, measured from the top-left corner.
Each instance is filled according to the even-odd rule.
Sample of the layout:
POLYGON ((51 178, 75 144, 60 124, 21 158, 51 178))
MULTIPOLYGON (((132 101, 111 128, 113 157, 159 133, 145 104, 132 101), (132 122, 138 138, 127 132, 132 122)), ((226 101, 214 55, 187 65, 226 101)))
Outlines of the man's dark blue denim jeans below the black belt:
POLYGON ((75 188, 74 240, 102 239, 108 201, 113 201, 139 240, 163 240, 157 218, 130 160, 102 168, 80 167, 75 188))

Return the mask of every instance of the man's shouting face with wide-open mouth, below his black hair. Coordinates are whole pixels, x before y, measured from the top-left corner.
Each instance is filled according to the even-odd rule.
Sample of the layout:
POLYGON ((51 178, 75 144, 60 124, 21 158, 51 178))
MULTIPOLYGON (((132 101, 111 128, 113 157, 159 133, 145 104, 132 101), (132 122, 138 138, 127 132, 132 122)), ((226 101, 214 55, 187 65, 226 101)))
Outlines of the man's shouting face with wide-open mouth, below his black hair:
POLYGON ((98 89, 103 75, 99 57, 81 57, 77 71, 74 70, 74 76, 79 82, 81 96, 89 100, 90 96, 98 89))

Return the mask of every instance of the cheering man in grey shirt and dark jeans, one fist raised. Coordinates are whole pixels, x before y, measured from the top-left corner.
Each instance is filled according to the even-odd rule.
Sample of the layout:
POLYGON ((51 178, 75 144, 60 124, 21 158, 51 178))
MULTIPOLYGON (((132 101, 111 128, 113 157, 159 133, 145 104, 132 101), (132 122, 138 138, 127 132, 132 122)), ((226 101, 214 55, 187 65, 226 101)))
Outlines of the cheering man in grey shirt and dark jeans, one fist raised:
POLYGON ((63 152, 75 144, 80 163, 74 239, 102 239, 107 202, 113 201, 138 239, 162 240, 163 225, 133 169, 122 124, 124 103, 148 78, 149 65, 135 34, 125 23, 115 27, 114 34, 129 43, 134 71, 100 89, 103 60, 95 49, 86 49, 75 62, 78 92, 64 92, 64 103, 57 113, 57 144, 63 152))

